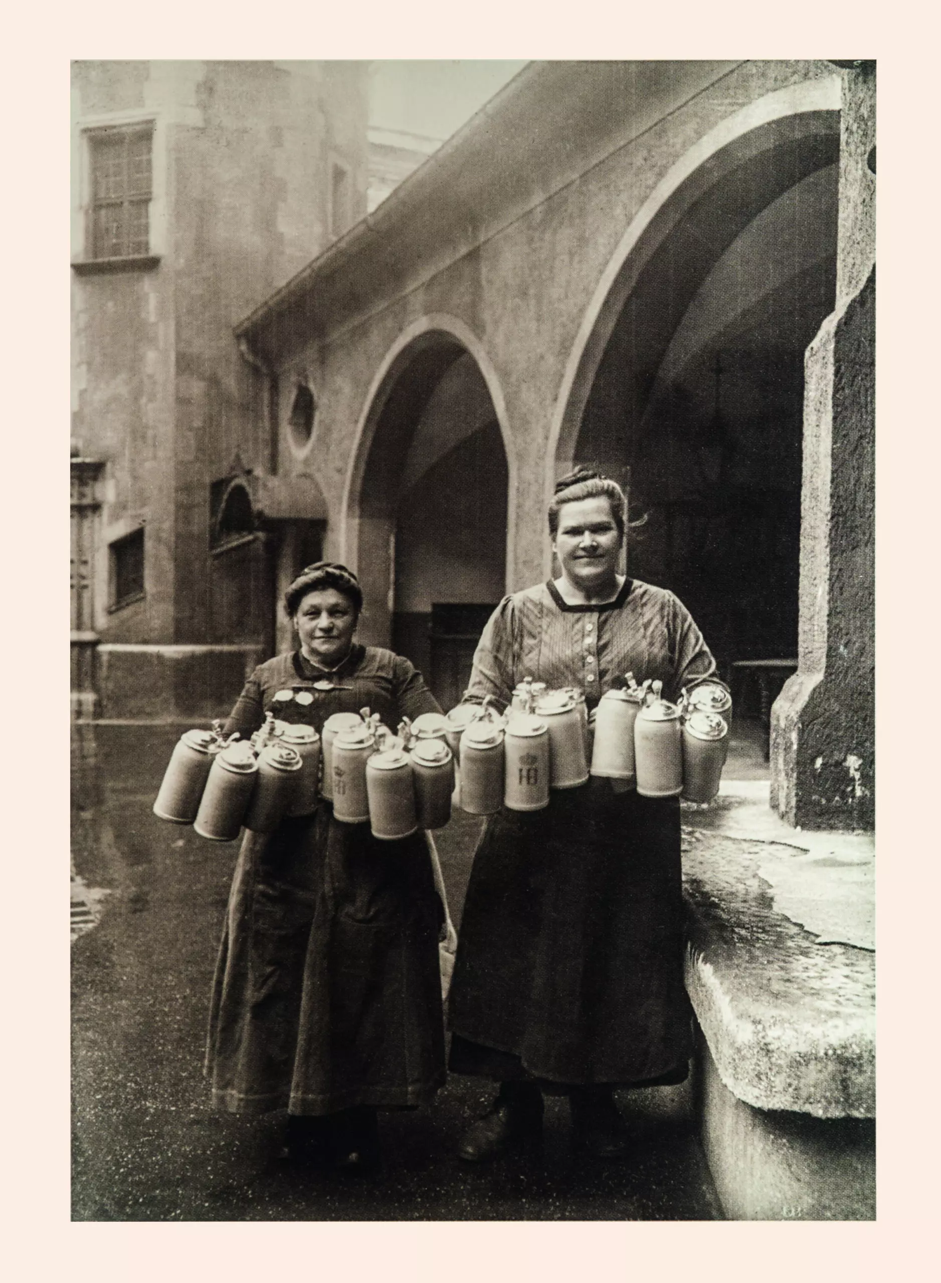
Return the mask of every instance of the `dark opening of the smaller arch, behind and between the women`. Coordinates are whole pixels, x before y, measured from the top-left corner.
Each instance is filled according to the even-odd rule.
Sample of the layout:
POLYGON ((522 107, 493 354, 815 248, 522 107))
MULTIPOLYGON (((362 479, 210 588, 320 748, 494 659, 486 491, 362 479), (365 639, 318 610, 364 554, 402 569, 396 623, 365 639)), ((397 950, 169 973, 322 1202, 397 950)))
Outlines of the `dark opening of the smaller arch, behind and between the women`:
POLYGON ((488 384, 452 334, 420 334, 367 416, 357 565, 359 635, 460 698, 476 636, 505 591, 508 471, 488 384))

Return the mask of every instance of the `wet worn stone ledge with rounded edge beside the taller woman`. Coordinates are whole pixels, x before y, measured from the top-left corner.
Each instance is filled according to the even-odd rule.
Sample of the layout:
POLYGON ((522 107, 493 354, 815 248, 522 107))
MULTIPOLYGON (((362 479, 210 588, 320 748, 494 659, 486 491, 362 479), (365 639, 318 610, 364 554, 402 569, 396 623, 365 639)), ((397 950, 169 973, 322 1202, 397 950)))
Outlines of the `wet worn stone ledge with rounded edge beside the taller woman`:
POLYGON ((718 1074, 760 1110, 874 1117, 874 953, 819 943, 779 912, 759 874, 772 857, 806 858, 778 842, 687 829, 686 981, 718 1074))

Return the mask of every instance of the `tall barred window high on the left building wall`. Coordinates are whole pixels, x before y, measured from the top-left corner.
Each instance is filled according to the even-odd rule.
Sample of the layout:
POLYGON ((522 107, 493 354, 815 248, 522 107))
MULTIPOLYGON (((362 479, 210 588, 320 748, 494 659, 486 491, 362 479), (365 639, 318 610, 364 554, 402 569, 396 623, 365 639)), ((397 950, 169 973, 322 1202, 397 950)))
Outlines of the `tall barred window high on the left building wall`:
POLYGON ((150 251, 151 144, 150 124, 89 133, 92 258, 150 251))

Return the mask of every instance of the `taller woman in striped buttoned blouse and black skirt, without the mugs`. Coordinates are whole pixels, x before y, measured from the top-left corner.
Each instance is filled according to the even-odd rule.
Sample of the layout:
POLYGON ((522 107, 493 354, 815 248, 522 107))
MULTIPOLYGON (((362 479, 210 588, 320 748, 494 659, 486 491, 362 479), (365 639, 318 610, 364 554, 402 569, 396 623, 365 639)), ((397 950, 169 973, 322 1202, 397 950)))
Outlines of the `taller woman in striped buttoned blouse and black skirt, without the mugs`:
MULTIPOLYGON (((617 572, 625 506, 597 472, 560 481, 548 512, 561 575, 506 597, 474 657, 469 698, 506 706, 524 677, 578 686, 589 711, 624 674, 675 699, 715 663, 673 593, 617 572)), ((537 812, 487 825, 467 888, 449 994, 451 1069, 501 1083, 460 1153, 537 1138, 540 1088, 569 1094, 575 1139, 620 1157, 612 1089, 687 1076, 677 798, 592 777, 537 812)))

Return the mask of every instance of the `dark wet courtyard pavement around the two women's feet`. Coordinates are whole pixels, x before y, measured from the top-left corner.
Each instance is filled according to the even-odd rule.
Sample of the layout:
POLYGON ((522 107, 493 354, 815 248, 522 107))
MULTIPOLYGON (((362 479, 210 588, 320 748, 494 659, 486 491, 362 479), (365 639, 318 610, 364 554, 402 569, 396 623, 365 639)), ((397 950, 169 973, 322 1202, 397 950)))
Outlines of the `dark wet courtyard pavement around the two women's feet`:
MULTIPOLYGON (((492 1092, 451 1078, 429 1109, 380 1115, 366 1179, 280 1164, 284 1114, 212 1112, 203 1037, 237 843, 151 813, 180 730, 73 729, 73 887, 100 913, 72 946, 74 1220, 719 1219, 687 1087, 621 1093, 624 1162, 573 1159, 566 1103, 548 1098, 542 1160, 478 1169, 453 1150, 492 1092)), ((460 816, 439 837, 458 922, 476 833, 460 816)))

